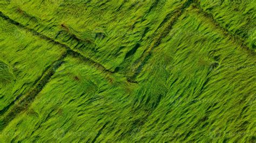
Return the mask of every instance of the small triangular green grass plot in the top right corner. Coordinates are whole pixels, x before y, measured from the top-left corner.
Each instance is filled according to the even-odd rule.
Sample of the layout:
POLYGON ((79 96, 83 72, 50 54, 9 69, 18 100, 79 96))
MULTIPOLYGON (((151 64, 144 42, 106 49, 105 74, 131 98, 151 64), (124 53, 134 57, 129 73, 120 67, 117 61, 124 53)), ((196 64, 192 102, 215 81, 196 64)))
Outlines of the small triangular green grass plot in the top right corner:
POLYGON ((256 1, 199 1, 200 8, 228 33, 256 48, 256 1))

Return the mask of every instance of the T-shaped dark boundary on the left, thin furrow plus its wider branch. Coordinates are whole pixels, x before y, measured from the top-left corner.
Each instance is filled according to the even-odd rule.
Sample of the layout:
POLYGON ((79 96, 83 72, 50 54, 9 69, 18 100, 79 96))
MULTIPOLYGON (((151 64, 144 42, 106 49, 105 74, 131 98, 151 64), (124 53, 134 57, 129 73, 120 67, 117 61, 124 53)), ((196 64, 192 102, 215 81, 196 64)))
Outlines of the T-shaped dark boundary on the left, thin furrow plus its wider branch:
MULTIPOLYGON (((28 28, 28 27, 22 25, 21 23, 16 22, 15 20, 12 20, 8 16, 4 15, 3 12, 1 12, 1 11, 0 11, 0 17, 2 17, 5 20, 8 20, 9 23, 18 26, 19 28, 23 28, 24 30, 31 32, 33 35, 37 35, 44 40, 50 41, 53 44, 59 45, 60 47, 63 47, 66 49, 64 54, 57 61, 53 62, 51 66, 49 66, 45 69, 42 76, 39 77, 39 79, 37 81, 35 81, 35 84, 31 88, 31 90, 26 92, 26 94, 24 96, 16 98, 8 106, 6 106, 6 108, 4 110, 0 111, 0 115, 2 116, 0 118, 0 131, 2 131, 4 129, 4 127, 6 125, 8 125, 8 123, 18 115, 18 113, 20 113, 23 110, 26 110, 28 108, 28 106, 33 102, 33 99, 35 99, 35 97, 38 95, 38 93, 49 82, 49 80, 51 79, 51 76, 53 74, 55 74, 56 69, 62 65, 63 60, 66 58, 66 56, 71 55, 75 58, 78 58, 79 60, 87 62, 89 65, 94 66, 98 70, 101 70, 103 73, 113 74, 113 72, 111 72, 109 69, 106 69, 100 63, 93 61, 90 58, 85 57, 84 55, 80 54, 79 52, 73 51, 69 46, 67 46, 65 44, 55 41, 55 40, 47 37, 44 34, 41 34, 31 28, 28 28)), ((127 81, 127 82, 129 82, 129 81, 127 81)))

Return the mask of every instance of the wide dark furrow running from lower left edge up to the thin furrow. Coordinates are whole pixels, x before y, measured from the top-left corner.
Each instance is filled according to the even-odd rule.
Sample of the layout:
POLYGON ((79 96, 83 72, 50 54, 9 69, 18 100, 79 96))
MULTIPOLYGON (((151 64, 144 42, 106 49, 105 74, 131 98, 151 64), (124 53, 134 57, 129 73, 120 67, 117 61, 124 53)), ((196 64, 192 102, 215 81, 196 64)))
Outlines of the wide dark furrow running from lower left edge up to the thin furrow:
POLYGON ((9 109, 3 114, 0 120, 0 131, 2 131, 4 127, 8 125, 8 123, 18 115, 18 113, 28 108, 28 106, 33 102, 37 94, 50 81, 51 76, 55 74, 56 69, 58 69, 62 65, 63 59, 67 55, 68 52, 65 52, 57 61, 53 62, 50 68, 45 71, 41 79, 32 87, 32 89, 27 94, 18 99, 17 102, 14 101, 8 107, 9 109))

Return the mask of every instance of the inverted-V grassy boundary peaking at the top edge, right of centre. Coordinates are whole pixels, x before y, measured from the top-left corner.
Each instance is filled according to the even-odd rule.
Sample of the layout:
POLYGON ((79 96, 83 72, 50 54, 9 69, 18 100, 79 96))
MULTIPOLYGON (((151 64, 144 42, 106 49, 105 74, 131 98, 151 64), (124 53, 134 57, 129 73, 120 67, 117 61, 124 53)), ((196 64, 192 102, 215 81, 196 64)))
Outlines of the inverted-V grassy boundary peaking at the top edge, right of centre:
MULTIPOLYGON (((255 55, 255 52, 253 49, 249 48, 245 45, 245 41, 239 36, 234 35, 230 33, 226 28, 222 27, 211 15, 211 13, 207 13, 202 8, 200 8, 199 4, 197 2, 194 2, 193 0, 187 0, 181 8, 177 9, 177 12, 174 12, 172 14, 173 16, 170 18, 170 15, 167 15, 166 18, 170 18, 170 20, 164 25, 163 30, 159 33, 158 38, 154 40, 151 44, 151 46, 146 50, 146 52, 143 53, 143 55, 137 60, 137 65, 135 66, 135 70, 133 75, 130 77, 132 81, 135 80, 135 78, 138 76, 140 71, 143 69, 143 66, 145 63, 150 59, 152 56, 153 49, 159 46, 161 40, 166 37, 167 34, 172 29, 172 26, 177 22, 178 18, 183 14, 183 12, 189 7, 192 6, 192 9, 197 11, 198 15, 203 15, 205 18, 210 19, 210 22, 215 25, 216 28, 218 28, 222 34, 226 35, 228 38, 230 38, 234 43, 240 45, 243 49, 246 50, 251 55, 255 55)), ((165 18, 165 19, 166 19, 165 18)), ((162 23, 161 23, 162 25, 162 23)))

